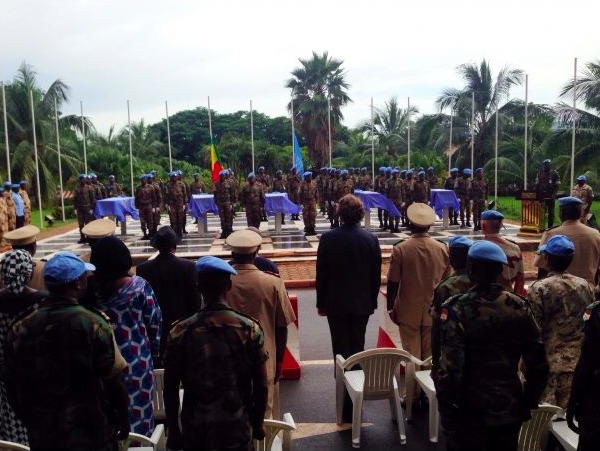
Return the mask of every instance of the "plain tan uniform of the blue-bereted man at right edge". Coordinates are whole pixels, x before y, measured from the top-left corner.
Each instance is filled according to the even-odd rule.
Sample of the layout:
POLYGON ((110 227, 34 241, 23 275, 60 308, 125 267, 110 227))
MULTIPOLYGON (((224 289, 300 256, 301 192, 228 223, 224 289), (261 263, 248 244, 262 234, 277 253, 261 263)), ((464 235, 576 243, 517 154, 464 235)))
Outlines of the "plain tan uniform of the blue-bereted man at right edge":
MULTIPOLYGON (((558 227, 546 230, 542 235, 540 245, 554 235, 566 235, 575 245, 573 261, 567 268, 569 274, 583 277, 595 285, 596 272, 600 267, 600 232, 582 224, 579 220, 568 220, 558 227)), ((538 262, 539 256, 536 256, 533 263, 539 266, 538 262)))

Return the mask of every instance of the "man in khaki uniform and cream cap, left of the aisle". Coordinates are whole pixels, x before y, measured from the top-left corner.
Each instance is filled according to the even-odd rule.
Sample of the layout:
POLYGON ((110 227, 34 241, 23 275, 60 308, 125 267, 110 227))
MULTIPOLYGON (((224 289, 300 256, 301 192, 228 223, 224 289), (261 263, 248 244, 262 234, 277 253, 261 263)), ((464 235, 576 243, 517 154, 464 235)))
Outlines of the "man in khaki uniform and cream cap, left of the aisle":
POLYGON ((277 382, 281 377, 283 355, 287 345, 287 326, 295 321, 290 299, 279 276, 259 270, 254 258, 262 237, 252 230, 238 230, 225 241, 231 247, 233 267, 237 275, 231 277, 232 287, 227 292, 229 306, 255 318, 265 333, 265 349, 269 354, 267 378, 269 399, 266 417, 277 419, 277 382))

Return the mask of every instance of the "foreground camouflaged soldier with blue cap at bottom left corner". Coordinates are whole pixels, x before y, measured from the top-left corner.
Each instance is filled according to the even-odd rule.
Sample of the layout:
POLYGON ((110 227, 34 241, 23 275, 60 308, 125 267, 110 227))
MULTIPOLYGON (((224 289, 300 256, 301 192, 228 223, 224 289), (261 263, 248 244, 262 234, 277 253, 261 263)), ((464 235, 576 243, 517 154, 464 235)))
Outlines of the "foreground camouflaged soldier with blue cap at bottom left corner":
POLYGON ((127 363, 108 317, 78 303, 89 270, 71 252, 48 260, 50 295, 6 339, 4 382, 32 450, 113 451, 129 434, 127 363))

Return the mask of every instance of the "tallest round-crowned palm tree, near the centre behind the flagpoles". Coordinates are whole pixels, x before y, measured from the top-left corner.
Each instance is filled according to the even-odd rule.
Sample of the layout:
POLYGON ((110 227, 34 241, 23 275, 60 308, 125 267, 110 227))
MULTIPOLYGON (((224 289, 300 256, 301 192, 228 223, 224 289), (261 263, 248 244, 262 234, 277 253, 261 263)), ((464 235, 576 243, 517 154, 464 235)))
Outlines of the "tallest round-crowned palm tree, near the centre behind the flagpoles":
POLYGON ((313 52, 311 59, 299 61, 301 67, 292 71, 293 78, 285 86, 292 89, 294 123, 299 125, 312 163, 322 167, 329 153, 329 111, 333 136, 344 118, 342 107, 351 102, 347 93, 350 86, 345 81, 344 62, 327 52, 313 52))

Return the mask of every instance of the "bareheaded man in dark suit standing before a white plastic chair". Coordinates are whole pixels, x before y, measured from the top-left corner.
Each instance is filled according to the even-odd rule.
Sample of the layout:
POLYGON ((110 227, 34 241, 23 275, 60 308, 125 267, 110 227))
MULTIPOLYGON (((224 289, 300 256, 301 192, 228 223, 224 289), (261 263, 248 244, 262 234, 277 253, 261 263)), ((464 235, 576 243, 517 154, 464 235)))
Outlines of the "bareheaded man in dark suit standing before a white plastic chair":
MULTIPOLYGON (((341 226, 321 236, 317 250, 317 310, 327 316, 333 355, 348 358, 363 351, 369 316, 381 286, 381 248, 360 227, 365 211, 352 194, 338 204, 341 226)), ((343 419, 351 422, 352 403, 344 401, 343 419)))

